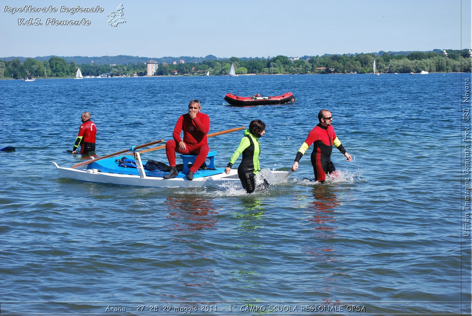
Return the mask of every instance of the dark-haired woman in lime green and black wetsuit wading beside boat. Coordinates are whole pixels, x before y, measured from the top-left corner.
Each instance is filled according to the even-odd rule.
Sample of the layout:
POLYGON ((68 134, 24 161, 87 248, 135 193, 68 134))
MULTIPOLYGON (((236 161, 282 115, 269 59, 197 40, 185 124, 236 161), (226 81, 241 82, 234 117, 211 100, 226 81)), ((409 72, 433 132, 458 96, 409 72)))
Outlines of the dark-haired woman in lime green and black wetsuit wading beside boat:
MULTIPOLYGON (((229 174, 229 171, 233 167, 233 163, 236 162, 240 154, 243 154, 243 160, 237 168, 237 175, 241 180, 241 184, 247 193, 253 193, 256 189, 255 176, 261 171, 259 166, 259 154, 261 153, 261 143, 259 139, 265 134, 265 124, 261 120, 253 120, 249 124, 249 129, 244 130, 244 137, 241 139, 239 146, 235 153, 231 156, 228 166, 225 172, 229 174)), ((269 187, 269 183, 264 179, 262 184, 263 188, 269 187)))

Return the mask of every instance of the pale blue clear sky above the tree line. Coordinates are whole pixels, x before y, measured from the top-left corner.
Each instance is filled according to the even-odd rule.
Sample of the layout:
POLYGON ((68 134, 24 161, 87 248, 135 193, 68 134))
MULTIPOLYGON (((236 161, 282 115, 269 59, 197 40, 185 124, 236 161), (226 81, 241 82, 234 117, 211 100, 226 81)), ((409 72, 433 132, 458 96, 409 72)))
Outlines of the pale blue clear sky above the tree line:
MULTIPOLYGON (((0 57, 287 57, 470 49, 472 0, 0 0, 0 57), (122 4, 126 23, 107 15, 122 4), (57 8, 16 12, 11 8, 57 8), (60 12, 60 8, 103 12, 60 12), (21 19, 42 25, 18 25, 21 19), (89 25, 46 25, 46 20, 89 25)), ((23 22, 24 22, 23 21, 23 22)))

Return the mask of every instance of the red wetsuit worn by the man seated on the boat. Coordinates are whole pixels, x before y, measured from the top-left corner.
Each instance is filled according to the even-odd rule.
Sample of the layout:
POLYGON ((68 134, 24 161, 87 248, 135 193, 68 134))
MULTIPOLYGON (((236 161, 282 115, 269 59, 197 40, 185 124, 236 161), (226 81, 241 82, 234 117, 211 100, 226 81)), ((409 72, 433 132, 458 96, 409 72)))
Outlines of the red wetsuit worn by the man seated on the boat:
POLYGON ((194 165, 190 171, 194 173, 205 162, 210 148, 208 147, 206 134, 210 130, 210 118, 207 114, 197 113, 197 116, 192 120, 188 113, 180 115, 174 128, 174 139, 168 140, 166 143, 166 155, 169 159, 171 167, 176 166, 176 152, 186 155, 197 155, 194 165), (182 141, 180 132, 184 131, 184 139, 186 149, 181 150, 178 143, 182 141))

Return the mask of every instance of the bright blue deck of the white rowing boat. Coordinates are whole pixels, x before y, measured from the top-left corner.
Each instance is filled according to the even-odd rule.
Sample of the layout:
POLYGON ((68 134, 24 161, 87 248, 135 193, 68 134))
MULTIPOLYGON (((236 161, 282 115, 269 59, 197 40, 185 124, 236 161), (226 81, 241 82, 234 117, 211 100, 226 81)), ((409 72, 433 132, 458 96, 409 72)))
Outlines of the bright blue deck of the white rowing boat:
MULTIPOLYGON (((134 159, 133 156, 123 156, 129 159, 134 159)), ((116 174, 128 174, 128 175, 135 175, 139 176, 139 171, 136 168, 125 168, 119 167, 118 162, 115 162, 117 157, 101 159, 96 162, 89 163, 87 165, 87 169, 98 169, 101 172, 107 173, 116 173, 116 174)), ((145 162, 143 162, 145 164, 145 162)), ((202 178, 202 177, 209 177, 215 174, 220 174, 225 172, 225 168, 216 168, 216 170, 197 170, 194 174, 194 178, 202 178)), ((162 178, 168 171, 161 171, 161 170, 144 170, 144 173, 148 177, 159 177, 162 178)), ((186 173, 179 172, 176 178, 185 178, 186 173)))

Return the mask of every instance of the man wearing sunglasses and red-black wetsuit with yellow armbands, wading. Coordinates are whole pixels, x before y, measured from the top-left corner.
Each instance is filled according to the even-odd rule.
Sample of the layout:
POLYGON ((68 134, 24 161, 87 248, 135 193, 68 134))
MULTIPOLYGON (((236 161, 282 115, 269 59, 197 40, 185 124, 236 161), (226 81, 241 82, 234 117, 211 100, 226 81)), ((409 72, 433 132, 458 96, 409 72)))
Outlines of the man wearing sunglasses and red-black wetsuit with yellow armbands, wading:
POLYGON ((346 152, 346 149, 341 145, 341 141, 334 133, 333 126, 331 125, 331 122, 333 122, 331 112, 321 110, 320 113, 318 113, 318 120, 320 123, 312 129, 303 145, 298 149, 292 171, 295 172, 298 170, 298 162, 308 147, 314 143, 311 156, 313 173, 315 174, 315 181, 323 183, 326 180, 326 175, 336 170, 334 163, 331 161, 333 145, 344 154, 348 162, 351 161, 352 157, 346 152))

